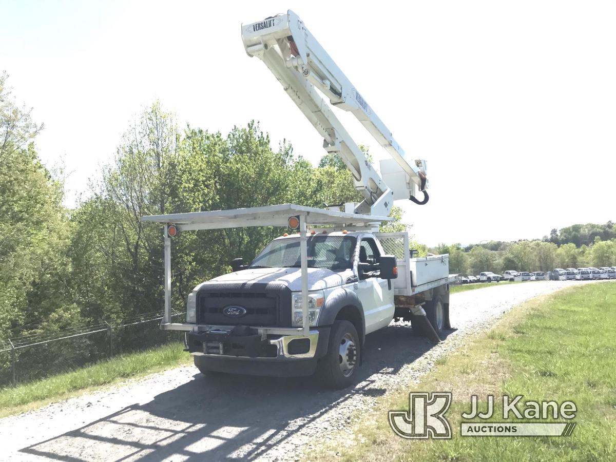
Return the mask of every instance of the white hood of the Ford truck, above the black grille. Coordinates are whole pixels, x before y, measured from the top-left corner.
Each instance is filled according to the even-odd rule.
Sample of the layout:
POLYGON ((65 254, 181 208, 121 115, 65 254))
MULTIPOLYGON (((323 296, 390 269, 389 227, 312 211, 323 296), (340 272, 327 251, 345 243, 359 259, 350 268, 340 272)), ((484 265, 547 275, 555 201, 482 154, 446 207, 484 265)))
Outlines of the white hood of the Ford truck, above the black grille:
MULTIPOLYGON (((195 290, 210 283, 282 283, 291 291, 302 290, 302 272, 300 268, 256 268, 236 271, 201 283, 195 290)), ((308 269, 308 290, 322 290, 346 283, 353 275, 353 270, 333 272, 324 268, 308 269)))

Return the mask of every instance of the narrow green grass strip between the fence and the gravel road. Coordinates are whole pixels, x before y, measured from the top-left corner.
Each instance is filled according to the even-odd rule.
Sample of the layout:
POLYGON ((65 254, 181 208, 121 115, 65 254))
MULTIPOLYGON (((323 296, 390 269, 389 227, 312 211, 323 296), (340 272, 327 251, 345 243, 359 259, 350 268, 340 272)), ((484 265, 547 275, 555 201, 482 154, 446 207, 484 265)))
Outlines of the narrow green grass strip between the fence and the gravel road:
POLYGON ((0 416, 39 407, 122 379, 192 363, 192 356, 183 350, 183 344, 174 342, 142 352, 118 355, 79 370, 14 388, 1 389, 0 416))

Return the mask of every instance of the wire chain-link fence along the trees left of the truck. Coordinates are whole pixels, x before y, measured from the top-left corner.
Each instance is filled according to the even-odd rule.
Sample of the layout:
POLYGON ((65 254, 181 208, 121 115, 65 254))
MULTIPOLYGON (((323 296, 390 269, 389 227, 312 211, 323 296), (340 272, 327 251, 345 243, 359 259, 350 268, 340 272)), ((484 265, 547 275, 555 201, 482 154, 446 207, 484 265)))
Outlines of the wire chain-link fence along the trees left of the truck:
MULTIPOLYGON (((173 317, 179 316, 174 313, 173 317)), ((124 320, 0 340, 0 386, 15 386, 91 365, 116 354, 183 340, 179 331, 160 328, 162 317, 146 313, 124 320)))

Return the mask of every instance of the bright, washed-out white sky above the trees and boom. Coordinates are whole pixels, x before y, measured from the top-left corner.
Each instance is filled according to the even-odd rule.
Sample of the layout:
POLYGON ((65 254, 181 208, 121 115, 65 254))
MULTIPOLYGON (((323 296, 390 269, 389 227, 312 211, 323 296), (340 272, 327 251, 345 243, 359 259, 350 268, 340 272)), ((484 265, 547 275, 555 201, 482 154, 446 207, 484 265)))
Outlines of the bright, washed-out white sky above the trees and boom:
POLYGON ((317 132, 241 44, 241 23, 288 8, 403 149, 428 160, 430 203, 399 203, 417 240, 532 238, 616 219, 614 2, 4 1, 0 70, 46 126, 41 158, 70 172, 69 204, 157 98, 180 125, 259 120, 275 146, 291 140, 317 163, 317 132))

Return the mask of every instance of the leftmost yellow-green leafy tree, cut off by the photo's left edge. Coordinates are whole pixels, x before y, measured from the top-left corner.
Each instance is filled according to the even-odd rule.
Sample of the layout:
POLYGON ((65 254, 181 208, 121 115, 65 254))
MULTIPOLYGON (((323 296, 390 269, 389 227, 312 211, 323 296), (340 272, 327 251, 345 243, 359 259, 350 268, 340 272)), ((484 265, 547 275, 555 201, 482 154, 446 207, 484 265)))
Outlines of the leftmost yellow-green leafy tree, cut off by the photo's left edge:
MULTIPOLYGON (((41 164, 34 139, 43 129, 0 76, 0 338, 36 328, 67 297, 70 236, 62 184, 41 164)), ((62 319, 57 320, 62 323, 62 319)))

